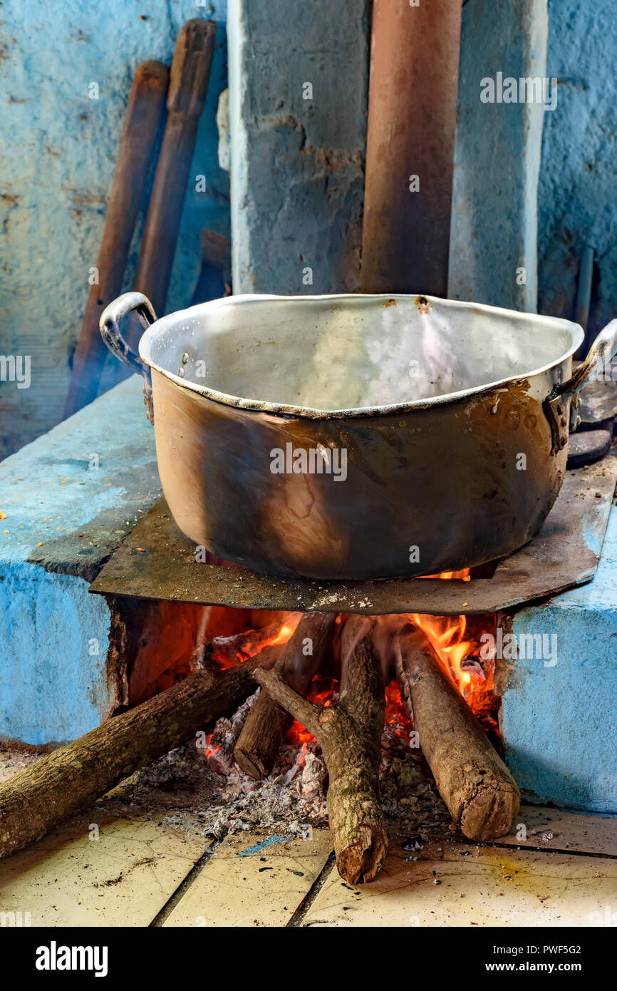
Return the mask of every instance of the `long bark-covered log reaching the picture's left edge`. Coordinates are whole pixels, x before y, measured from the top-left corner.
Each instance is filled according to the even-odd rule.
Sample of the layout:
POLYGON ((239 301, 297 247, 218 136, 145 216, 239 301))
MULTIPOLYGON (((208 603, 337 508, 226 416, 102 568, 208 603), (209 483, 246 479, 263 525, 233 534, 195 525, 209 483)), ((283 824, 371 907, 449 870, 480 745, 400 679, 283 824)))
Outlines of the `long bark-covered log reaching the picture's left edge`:
POLYGON ((220 674, 204 670, 189 675, 4 782, 0 856, 35 842, 138 768, 234 712, 255 689, 256 667, 275 663, 279 650, 268 647, 220 674))

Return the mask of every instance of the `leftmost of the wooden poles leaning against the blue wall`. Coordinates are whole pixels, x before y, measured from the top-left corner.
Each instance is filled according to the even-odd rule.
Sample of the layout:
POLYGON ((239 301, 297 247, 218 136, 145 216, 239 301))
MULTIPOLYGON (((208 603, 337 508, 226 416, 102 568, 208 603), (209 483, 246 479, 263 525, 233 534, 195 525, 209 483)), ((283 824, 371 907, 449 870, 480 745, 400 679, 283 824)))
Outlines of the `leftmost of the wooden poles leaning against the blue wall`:
POLYGON ((127 104, 118 163, 105 216, 96 263, 95 282, 88 295, 64 416, 70 416, 96 397, 105 362, 99 334, 100 315, 122 291, 129 248, 165 107, 169 70, 159 61, 138 66, 127 104))

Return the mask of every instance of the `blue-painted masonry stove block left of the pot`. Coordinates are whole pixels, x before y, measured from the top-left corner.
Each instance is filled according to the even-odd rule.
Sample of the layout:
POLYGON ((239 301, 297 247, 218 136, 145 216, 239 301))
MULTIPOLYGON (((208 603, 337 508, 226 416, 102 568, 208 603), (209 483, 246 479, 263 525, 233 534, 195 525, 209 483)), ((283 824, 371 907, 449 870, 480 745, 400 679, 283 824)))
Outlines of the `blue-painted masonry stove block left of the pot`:
POLYGON ((0 740, 74 739, 126 702, 88 586, 160 495, 140 377, 6 458, 0 494, 0 740))

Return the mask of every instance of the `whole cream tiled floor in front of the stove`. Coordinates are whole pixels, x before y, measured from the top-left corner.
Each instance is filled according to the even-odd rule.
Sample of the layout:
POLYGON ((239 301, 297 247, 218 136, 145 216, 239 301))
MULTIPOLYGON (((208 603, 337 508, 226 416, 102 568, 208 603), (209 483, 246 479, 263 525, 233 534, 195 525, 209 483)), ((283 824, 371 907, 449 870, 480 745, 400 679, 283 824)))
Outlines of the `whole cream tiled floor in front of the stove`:
POLYGON ((394 836, 377 879, 352 887, 326 829, 216 844, 162 814, 101 812, 0 862, 0 914, 57 927, 587 927, 617 918, 617 821, 532 806, 517 818, 526 839, 520 827, 519 838, 480 845, 448 832, 413 850, 394 836))

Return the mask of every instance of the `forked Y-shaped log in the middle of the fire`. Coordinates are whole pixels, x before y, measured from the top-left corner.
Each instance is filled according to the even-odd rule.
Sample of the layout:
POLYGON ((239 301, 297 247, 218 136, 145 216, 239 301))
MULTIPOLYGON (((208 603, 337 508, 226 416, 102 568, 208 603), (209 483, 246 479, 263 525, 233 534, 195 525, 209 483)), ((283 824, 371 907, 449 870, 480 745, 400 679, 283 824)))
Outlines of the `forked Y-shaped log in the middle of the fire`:
POLYGON ((328 814, 337 866, 351 884, 371 881, 387 849, 377 774, 385 696, 371 631, 372 623, 361 616, 351 616, 345 624, 336 706, 307 702, 285 682, 278 667, 255 672, 259 685, 313 733, 322 748, 330 777, 328 814))

